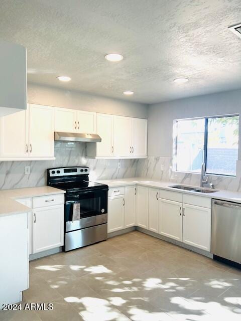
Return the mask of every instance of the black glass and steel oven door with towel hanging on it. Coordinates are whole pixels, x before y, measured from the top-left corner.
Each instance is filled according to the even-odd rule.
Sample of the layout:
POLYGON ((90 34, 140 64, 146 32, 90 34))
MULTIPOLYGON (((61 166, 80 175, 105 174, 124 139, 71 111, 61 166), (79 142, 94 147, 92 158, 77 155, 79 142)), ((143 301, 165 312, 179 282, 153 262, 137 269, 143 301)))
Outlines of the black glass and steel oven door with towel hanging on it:
POLYGON ((87 189, 67 193, 65 204, 65 232, 107 223, 108 189, 87 189), (74 204, 79 204, 80 219, 73 221, 74 204))

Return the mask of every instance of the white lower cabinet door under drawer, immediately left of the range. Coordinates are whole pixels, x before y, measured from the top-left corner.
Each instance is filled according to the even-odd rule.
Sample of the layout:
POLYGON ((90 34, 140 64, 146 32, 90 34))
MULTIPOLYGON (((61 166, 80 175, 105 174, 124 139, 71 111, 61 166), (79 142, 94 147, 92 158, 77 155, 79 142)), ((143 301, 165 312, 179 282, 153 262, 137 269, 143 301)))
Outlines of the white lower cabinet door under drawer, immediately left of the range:
POLYGON ((64 244, 64 205, 33 210, 33 253, 64 244))

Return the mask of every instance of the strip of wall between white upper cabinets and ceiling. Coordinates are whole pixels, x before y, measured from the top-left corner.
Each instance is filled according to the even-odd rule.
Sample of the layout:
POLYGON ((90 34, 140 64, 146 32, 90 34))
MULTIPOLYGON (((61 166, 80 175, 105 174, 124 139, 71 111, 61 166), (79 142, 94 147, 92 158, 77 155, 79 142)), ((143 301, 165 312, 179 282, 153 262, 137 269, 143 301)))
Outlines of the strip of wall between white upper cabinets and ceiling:
POLYGON ((148 116, 145 104, 32 83, 28 84, 28 102, 137 118, 148 116))

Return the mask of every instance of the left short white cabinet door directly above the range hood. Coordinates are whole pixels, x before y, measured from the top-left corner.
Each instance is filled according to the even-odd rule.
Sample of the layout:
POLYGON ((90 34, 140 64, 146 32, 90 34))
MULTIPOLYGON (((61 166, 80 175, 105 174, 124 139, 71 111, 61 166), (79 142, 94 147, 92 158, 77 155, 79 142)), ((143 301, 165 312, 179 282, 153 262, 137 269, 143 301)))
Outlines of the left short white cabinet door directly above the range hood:
POLYGON ((62 132, 75 132, 77 128, 76 110, 67 108, 54 108, 54 130, 62 132))

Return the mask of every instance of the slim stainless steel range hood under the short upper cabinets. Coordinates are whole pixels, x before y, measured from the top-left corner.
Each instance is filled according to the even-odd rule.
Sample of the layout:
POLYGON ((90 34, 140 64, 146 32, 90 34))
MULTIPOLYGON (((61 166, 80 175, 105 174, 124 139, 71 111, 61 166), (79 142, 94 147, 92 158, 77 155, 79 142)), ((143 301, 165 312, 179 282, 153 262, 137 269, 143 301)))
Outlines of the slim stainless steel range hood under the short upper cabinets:
POLYGON ((79 134, 76 132, 54 132, 54 140, 76 142, 100 142, 101 137, 97 134, 79 134))

